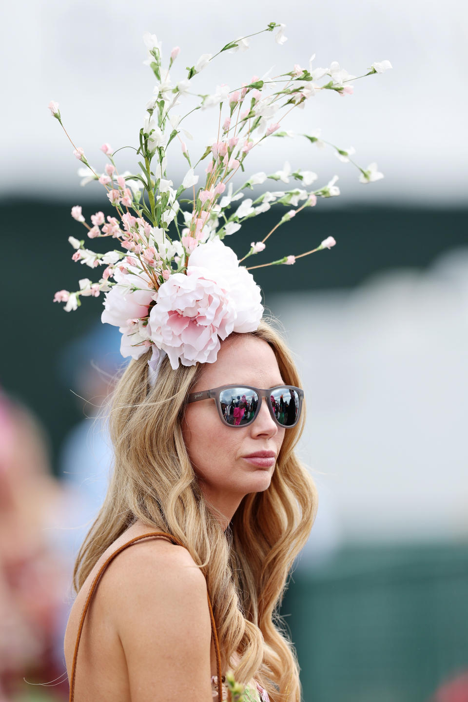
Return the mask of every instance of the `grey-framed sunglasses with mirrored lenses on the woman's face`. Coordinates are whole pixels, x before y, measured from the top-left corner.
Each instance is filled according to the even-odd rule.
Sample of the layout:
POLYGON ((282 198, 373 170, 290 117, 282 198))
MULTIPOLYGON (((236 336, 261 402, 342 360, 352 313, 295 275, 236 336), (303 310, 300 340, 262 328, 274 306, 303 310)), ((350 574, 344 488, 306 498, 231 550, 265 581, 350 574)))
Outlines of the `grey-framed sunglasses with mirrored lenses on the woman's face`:
POLYGON ((266 390, 252 385, 222 385, 221 388, 191 392, 188 402, 214 399, 223 423, 228 427, 246 427, 258 416, 262 397, 267 400, 269 413, 279 427, 289 429, 297 424, 304 391, 294 385, 276 385, 266 390))

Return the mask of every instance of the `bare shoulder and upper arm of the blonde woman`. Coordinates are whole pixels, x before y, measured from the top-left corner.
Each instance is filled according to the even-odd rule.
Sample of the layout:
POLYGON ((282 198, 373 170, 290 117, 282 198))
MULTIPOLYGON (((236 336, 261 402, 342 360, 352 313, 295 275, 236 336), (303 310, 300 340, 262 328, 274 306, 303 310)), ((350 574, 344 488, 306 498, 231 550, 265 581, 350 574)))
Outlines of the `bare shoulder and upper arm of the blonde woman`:
POLYGON ((106 576, 101 597, 126 656, 132 702, 210 701, 206 580, 187 549, 140 541, 106 576))

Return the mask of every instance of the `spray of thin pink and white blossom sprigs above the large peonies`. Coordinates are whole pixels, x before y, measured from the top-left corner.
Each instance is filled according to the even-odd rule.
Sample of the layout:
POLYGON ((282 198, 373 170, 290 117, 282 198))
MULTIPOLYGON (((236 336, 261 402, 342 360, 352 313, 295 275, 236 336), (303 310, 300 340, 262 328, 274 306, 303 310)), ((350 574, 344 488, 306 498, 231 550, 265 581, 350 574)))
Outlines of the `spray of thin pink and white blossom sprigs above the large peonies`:
MULTIPOLYGON (((312 66, 315 58, 313 55, 307 68, 295 64, 292 69, 278 76, 272 76, 270 72, 262 77, 253 75, 250 81, 242 82, 234 90, 222 84, 213 95, 199 95, 199 105, 194 107, 194 110, 208 110, 216 106, 219 114, 218 135, 196 162, 195 159, 191 159, 185 142, 185 139, 191 140, 192 135, 185 126, 182 126, 182 121, 193 110, 182 117, 172 114, 176 104, 190 95, 196 95, 190 90, 192 80, 199 72, 206 69, 216 56, 225 51, 229 53, 245 51, 248 49, 250 38, 262 32, 276 30, 275 40, 281 45, 286 41, 284 29, 285 25, 270 22, 261 32, 228 42, 215 55, 203 53, 199 60, 187 69, 187 76, 175 81, 174 84, 171 82, 170 70, 180 53, 180 48, 173 48, 168 67, 164 68, 161 43, 155 35, 146 32, 144 39, 148 58, 145 63, 152 68, 159 82, 154 88, 154 98, 146 105, 145 121, 140 129, 140 147, 137 150, 137 154, 142 158, 138 162, 140 173, 119 174, 114 160, 119 149, 113 151, 109 143, 104 143, 100 150, 110 162, 106 164, 104 172, 99 176, 88 164, 83 149, 76 147, 69 138, 62 124, 58 103, 51 101, 48 107, 72 143, 75 157, 93 173, 93 179, 104 185, 107 199, 116 208, 116 216, 107 216, 107 221, 102 212, 91 216, 93 226, 86 222, 79 205, 73 206, 72 217, 86 227, 88 238, 112 237, 119 241, 122 249, 122 251, 108 251, 105 254, 94 253, 84 246, 84 241, 69 237, 75 249, 72 257, 74 260, 89 267, 100 267, 105 264, 106 268, 98 283, 81 279, 79 291, 75 293, 58 291, 55 293, 55 301, 66 302, 67 310, 76 309, 80 304, 80 296, 98 296, 100 291, 109 291, 115 284, 110 282, 110 279, 115 279, 115 276, 132 275, 135 279, 142 281, 144 289, 158 291, 171 279, 172 274, 187 273, 189 256, 201 244, 234 234, 246 219, 266 212, 272 203, 287 207, 288 211, 283 214, 275 227, 267 232, 262 241, 252 242, 250 251, 244 256, 248 258, 265 250, 265 241, 276 229, 297 216, 307 206, 315 206, 318 197, 328 198, 340 194, 339 188, 335 185, 338 176, 334 176, 327 185, 310 191, 307 188, 318 178, 317 174, 312 171, 302 171, 300 168, 292 171, 287 163, 279 171, 269 175, 253 174, 235 192, 232 186, 232 179, 239 169, 244 170, 245 161, 253 148, 258 147, 265 139, 292 136, 292 133, 283 128, 283 121, 291 110, 304 109, 307 101, 323 90, 333 91, 341 98, 353 94, 353 86, 349 83, 356 79, 356 76, 349 74, 337 62, 332 62, 327 68, 316 68, 312 66), (325 82, 320 85, 318 81, 321 79, 325 79, 325 82), (179 141, 182 155, 187 159, 190 167, 180 185, 173 185, 173 181, 168 178, 168 147, 175 138, 179 141), (205 168, 205 182, 198 183, 199 176, 194 173, 194 169, 205 159, 208 162, 205 168), (193 167, 192 161, 195 162, 193 167), (297 187, 265 192, 255 200, 243 197, 241 192, 243 188, 253 189, 255 185, 260 185, 267 179, 288 184, 291 178, 298 182, 297 187), (179 201, 185 190, 192 192, 192 198, 179 201), (241 202, 236 203, 237 200, 241 202), (189 203, 187 211, 182 210, 181 202, 189 203), (178 232, 178 241, 173 241, 167 236, 171 223, 178 232)), ((375 62, 366 75, 383 73, 391 67, 389 61, 375 62)), ((361 77, 363 76, 358 78, 361 77)), ((304 136, 317 147, 323 147, 328 143, 319 138, 317 133, 304 136)), ((359 168, 361 183, 370 183, 384 177, 377 171, 375 162, 366 168, 355 164, 350 159, 355 152, 354 147, 341 149, 335 145, 332 146, 340 161, 352 162, 359 168)), ((321 248, 330 248, 335 244, 334 239, 333 244, 328 241, 330 245, 325 244, 325 241, 327 240, 313 251, 298 256, 285 256, 279 261, 263 265, 279 263, 292 265, 297 258, 307 256, 321 248)), ((138 286, 133 285, 131 291, 137 290, 138 286)), ((134 315, 129 315, 128 319, 133 317, 134 315)), ((144 315, 138 324, 145 326, 147 316, 144 315)), ((144 334, 139 343, 149 343, 144 334)))

